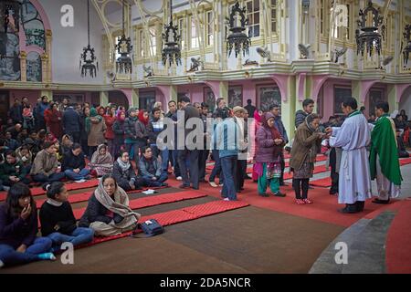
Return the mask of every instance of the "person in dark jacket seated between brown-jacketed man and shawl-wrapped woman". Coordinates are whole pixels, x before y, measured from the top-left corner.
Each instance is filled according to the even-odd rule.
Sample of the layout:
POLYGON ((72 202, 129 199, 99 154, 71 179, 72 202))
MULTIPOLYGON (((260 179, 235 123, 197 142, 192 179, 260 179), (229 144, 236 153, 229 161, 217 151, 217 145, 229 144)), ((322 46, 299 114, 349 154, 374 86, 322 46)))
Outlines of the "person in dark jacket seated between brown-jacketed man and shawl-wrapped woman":
POLYGON ((90 170, 85 168, 86 161, 84 154, 82 154, 79 143, 74 143, 71 150, 64 153, 61 171, 66 173, 69 180, 76 183, 84 183, 85 180, 90 179, 90 170))

